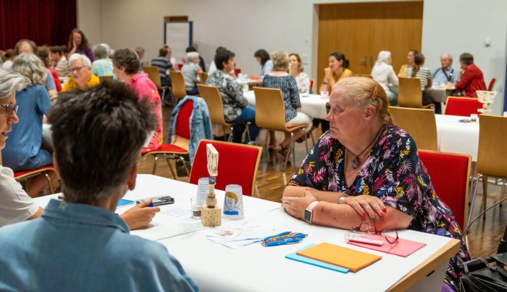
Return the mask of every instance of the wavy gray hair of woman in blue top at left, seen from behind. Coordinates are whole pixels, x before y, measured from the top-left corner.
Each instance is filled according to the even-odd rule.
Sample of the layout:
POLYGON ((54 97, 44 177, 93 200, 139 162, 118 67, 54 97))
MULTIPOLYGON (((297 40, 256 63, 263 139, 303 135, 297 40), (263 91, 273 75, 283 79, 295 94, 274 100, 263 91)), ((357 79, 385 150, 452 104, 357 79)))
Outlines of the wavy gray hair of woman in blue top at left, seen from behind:
POLYGON ((11 69, 21 75, 28 77, 33 84, 46 85, 48 73, 44 63, 39 57, 33 54, 21 53, 14 58, 11 69))

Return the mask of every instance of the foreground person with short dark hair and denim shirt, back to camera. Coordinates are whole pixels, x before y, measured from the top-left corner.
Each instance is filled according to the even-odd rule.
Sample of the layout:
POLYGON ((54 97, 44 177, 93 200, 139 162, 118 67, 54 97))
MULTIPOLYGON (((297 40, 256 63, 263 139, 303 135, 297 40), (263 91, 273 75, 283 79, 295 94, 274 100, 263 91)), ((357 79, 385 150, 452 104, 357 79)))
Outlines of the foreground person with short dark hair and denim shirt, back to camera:
POLYGON ((114 213, 134 189, 141 147, 157 128, 152 111, 120 82, 62 94, 48 119, 64 199, 49 201, 39 219, 0 229, 0 285, 42 291, 198 289, 162 244, 130 235, 114 213))

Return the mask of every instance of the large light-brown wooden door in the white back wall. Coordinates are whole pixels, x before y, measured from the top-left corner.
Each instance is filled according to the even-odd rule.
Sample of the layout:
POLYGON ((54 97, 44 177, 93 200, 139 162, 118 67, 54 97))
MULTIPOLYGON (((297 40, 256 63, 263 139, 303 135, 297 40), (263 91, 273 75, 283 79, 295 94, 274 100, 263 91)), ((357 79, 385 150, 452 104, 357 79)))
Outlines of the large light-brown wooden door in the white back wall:
POLYGON ((335 51, 345 54, 354 74, 370 74, 378 53, 390 51, 397 73, 407 52, 421 49, 422 11, 422 1, 320 5, 317 88, 335 51))

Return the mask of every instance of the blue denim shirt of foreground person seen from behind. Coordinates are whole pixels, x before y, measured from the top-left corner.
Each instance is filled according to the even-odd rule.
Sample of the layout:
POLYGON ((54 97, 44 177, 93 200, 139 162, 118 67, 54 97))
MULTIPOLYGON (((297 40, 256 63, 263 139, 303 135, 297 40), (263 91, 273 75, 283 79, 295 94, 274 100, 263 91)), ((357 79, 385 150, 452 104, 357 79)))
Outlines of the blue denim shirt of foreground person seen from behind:
POLYGON ((197 291, 163 245, 97 206, 52 199, 0 228, 0 251, 1 291, 197 291))

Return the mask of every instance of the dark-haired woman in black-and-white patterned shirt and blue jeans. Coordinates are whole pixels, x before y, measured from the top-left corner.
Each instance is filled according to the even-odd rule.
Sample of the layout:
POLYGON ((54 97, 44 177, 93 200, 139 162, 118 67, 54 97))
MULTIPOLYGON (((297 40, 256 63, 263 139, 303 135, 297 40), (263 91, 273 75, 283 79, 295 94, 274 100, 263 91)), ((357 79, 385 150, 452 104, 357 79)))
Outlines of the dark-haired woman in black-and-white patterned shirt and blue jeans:
POLYGON ((228 50, 216 52, 214 62, 217 70, 208 76, 206 85, 218 88, 224 105, 225 121, 235 122, 232 142, 241 143, 241 135, 245 130, 246 122, 251 122, 249 126, 249 139, 251 140, 246 137, 245 142, 255 141, 261 130, 255 124, 255 107, 248 105, 248 100, 243 96, 241 85, 229 74, 235 66, 234 56, 234 53, 228 50))

